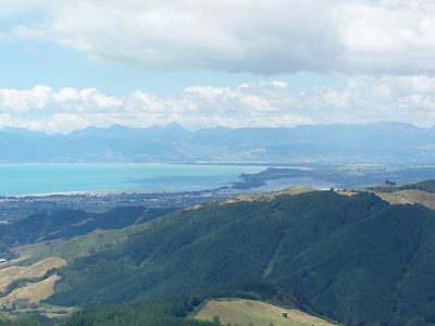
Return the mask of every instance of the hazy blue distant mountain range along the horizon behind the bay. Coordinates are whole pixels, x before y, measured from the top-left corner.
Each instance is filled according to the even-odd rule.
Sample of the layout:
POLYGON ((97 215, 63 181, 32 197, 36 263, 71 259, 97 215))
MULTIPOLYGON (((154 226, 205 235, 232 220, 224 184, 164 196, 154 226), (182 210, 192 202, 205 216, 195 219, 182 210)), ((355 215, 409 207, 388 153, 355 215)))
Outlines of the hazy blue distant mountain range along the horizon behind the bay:
POLYGON ((435 163, 435 128, 403 123, 293 128, 215 127, 189 131, 176 123, 114 125, 67 135, 0 129, 0 162, 264 162, 435 163))

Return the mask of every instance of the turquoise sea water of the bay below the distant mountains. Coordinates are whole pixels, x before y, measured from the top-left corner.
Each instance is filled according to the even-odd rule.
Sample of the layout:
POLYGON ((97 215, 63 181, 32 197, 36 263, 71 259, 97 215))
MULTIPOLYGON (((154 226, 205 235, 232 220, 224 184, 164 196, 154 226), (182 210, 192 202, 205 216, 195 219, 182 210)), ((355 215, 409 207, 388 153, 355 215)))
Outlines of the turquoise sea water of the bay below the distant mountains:
POLYGON ((185 164, 0 164, 0 196, 78 191, 211 189, 261 166, 185 164))

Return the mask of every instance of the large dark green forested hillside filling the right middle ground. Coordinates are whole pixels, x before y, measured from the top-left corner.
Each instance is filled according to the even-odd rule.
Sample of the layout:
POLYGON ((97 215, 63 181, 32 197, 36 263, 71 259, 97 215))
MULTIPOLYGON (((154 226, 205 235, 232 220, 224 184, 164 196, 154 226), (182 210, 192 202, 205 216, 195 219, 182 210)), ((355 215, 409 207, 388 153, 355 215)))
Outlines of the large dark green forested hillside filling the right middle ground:
POLYGON ((60 272, 50 303, 98 306, 270 280, 344 323, 435 322, 435 215, 371 193, 210 203, 60 272))

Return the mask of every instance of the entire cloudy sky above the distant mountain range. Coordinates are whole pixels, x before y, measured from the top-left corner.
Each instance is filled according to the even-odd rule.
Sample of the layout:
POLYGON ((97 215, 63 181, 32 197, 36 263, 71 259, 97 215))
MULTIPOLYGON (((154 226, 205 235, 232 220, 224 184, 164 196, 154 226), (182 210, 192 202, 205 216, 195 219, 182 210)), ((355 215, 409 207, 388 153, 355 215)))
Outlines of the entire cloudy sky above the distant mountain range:
POLYGON ((435 125, 433 0, 1 0, 0 127, 435 125))

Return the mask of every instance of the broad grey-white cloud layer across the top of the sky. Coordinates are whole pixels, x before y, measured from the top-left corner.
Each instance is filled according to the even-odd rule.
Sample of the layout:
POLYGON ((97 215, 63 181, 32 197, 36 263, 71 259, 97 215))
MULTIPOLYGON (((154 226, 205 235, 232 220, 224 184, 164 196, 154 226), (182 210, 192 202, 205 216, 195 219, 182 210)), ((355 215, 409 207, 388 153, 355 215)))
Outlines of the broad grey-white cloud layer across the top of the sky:
POLYGON ((55 41, 92 60, 148 70, 256 74, 435 73, 432 0, 17 0, 46 11, 0 39, 55 41))

